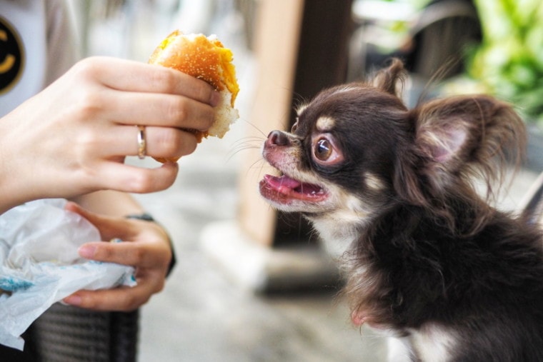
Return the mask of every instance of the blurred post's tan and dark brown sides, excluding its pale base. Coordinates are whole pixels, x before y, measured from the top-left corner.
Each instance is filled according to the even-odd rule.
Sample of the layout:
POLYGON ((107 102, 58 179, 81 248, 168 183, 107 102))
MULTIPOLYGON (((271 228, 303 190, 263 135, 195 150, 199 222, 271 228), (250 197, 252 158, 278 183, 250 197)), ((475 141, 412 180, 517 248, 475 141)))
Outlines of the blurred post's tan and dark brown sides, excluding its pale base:
MULTIPOLYGON (((249 136, 262 139, 274 129, 290 129, 297 103, 344 81, 352 0, 261 0, 259 6, 254 44, 259 71, 249 136)), ((274 172, 259 160, 260 150, 254 150, 242 167, 241 230, 265 246, 304 237, 302 218, 279 216, 256 193, 264 173, 274 172)))

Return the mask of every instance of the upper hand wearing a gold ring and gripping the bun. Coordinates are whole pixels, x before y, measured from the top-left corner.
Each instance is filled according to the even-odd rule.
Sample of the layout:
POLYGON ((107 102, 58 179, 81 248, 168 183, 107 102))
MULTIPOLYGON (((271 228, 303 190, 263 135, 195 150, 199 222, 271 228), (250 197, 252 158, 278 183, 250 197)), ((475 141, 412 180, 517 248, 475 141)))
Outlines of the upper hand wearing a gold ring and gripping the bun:
POLYGON ((0 122, 0 213, 36 198, 101 189, 146 193, 171 186, 178 167, 124 164, 138 154, 174 159, 196 148, 219 94, 179 71, 121 59, 84 59, 0 122))

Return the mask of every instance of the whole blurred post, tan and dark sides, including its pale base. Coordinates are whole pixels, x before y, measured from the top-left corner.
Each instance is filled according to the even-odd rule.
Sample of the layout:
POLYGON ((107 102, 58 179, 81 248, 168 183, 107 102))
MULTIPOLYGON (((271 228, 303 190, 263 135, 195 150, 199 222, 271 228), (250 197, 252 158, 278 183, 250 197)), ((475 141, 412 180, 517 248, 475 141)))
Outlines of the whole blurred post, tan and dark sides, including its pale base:
MULTIPOLYGON (((344 81, 352 0, 259 0, 254 37, 258 71, 248 120, 249 140, 264 142, 269 131, 289 129, 293 106, 324 87, 344 81)), ((251 141, 252 143, 252 141, 251 141)), ((279 215, 257 191, 274 170, 261 151, 244 152, 239 175, 240 209, 235 222, 214 223, 201 235, 206 253, 237 283, 254 291, 331 285, 337 265, 309 245, 307 223, 279 215), (289 243, 287 241, 301 241, 289 243)))

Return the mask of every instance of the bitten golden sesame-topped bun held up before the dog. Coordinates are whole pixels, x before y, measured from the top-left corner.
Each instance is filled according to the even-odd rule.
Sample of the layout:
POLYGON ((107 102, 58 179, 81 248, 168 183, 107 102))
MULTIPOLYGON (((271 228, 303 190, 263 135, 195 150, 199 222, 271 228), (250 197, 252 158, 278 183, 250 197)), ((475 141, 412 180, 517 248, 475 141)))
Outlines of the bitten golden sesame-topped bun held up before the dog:
POLYGON ((232 59, 231 50, 225 48, 216 36, 182 34, 180 31, 167 36, 149 58, 149 64, 159 64, 202 79, 221 94, 214 124, 206 132, 194 131, 199 142, 207 136, 222 138, 229 131, 230 124, 239 118, 238 111, 234 109, 239 85, 232 59))

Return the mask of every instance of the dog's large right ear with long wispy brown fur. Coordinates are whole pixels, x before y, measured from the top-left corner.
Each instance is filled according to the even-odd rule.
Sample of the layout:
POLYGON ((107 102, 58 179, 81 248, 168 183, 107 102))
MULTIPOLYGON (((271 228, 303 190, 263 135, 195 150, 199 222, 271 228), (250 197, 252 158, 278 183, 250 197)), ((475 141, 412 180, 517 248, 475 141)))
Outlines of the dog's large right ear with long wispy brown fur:
POLYGON ((475 174, 492 193, 490 185, 502 180, 504 163, 518 166, 524 156, 524 122, 509 104, 490 96, 435 100, 411 114, 417 174, 434 189, 475 174))

